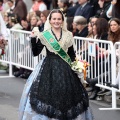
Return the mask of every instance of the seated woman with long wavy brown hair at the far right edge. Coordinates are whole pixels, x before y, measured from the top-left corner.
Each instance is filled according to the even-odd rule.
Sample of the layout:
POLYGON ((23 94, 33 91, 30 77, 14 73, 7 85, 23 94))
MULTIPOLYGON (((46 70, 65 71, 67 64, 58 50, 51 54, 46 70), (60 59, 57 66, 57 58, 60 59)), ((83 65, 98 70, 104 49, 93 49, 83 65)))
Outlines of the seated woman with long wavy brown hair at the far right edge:
MULTIPOLYGON (((109 32, 108 32, 108 40, 112 41, 113 44, 115 44, 116 42, 119 42, 120 41, 120 20, 118 18, 112 18, 110 21, 109 21, 109 32)), ((106 55, 109 55, 109 51, 105 51, 104 54, 106 55)), ((116 84, 111 84, 109 82, 112 82, 111 81, 111 78, 110 78, 110 81, 109 82, 106 82, 106 84, 109 86, 109 87, 114 87, 114 88, 117 88, 119 89, 119 77, 120 77, 120 71, 119 71, 119 56, 120 56, 120 47, 119 46, 116 46, 116 73, 117 73, 117 78, 115 80, 115 83, 116 84)), ((109 61, 110 62, 110 61, 109 61)), ((111 71, 110 71, 111 72, 111 71)), ((106 80, 108 80, 108 77, 106 76, 106 80)), ((102 90, 100 93, 98 93, 98 95, 107 95, 107 96, 110 96, 112 95, 112 92, 105 89, 105 90, 102 90)))

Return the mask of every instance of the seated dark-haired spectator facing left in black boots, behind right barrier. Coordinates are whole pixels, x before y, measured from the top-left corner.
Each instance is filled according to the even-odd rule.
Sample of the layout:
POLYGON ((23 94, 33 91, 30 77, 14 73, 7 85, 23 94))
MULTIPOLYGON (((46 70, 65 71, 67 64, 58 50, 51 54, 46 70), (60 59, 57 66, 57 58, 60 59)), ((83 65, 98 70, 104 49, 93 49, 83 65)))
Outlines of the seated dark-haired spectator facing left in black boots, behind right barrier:
MULTIPOLYGON (((93 34, 95 39, 100 40, 108 40, 108 21, 105 18, 97 18, 97 21, 93 24, 93 34)), ((104 74, 104 67, 109 65, 108 62, 105 62, 105 54, 103 53, 105 50, 108 50, 108 45, 104 45, 104 43, 96 44, 96 58, 95 61, 93 60, 93 68, 96 68, 96 71, 91 71, 93 73, 93 79, 86 78, 88 84, 93 88, 92 94, 89 96, 89 99, 94 100, 99 94, 101 94, 100 88, 96 87, 95 85, 98 83, 98 79, 105 79, 108 77, 108 74, 104 74), (102 66, 102 67, 101 67, 102 66), (98 72, 99 69, 99 72, 98 72), (102 72, 101 72, 102 71, 102 72)))

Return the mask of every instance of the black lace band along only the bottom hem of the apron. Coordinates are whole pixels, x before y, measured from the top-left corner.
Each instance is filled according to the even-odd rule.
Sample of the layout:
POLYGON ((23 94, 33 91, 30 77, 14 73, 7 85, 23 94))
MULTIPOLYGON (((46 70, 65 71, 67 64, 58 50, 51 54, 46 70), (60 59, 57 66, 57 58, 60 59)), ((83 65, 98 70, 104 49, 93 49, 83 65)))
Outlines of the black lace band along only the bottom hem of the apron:
POLYGON ((77 106, 72 107, 70 110, 68 110, 66 114, 63 114, 60 110, 55 109, 53 106, 47 105, 38 100, 37 96, 35 95, 31 94, 30 98, 31 107, 34 111, 36 111, 38 114, 46 115, 49 118, 55 118, 58 120, 75 119, 77 118, 77 116, 79 116, 81 113, 87 110, 85 109, 84 103, 81 102, 78 103, 77 106))

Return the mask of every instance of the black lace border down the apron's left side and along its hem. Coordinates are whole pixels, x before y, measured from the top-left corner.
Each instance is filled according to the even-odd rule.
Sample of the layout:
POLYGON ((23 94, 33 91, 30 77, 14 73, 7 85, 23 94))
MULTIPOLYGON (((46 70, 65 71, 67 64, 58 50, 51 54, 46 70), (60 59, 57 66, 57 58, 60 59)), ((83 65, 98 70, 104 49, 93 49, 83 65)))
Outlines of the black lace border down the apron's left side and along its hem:
MULTIPOLYGON (((46 63, 46 59, 43 61, 43 64, 41 68, 44 67, 46 63)), ((71 109, 69 109, 67 112, 62 113, 60 110, 55 109, 53 106, 43 103, 39 100, 38 96, 38 88, 39 88, 39 82, 40 82, 40 76, 41 76, 42 69, 40 70, 38 77, 33 82, 30 90, 30 104, 34 111, 36 111, 38 114, 43 114, 48 116, 49 118, 55 118, 58 120, 73 120, 78 115, 83 113, 88 109, 88 100, 84 99, 80 101, 76 106, 73 106, 71 109), (66 118, 67 117, 67 118, 66 118)))

